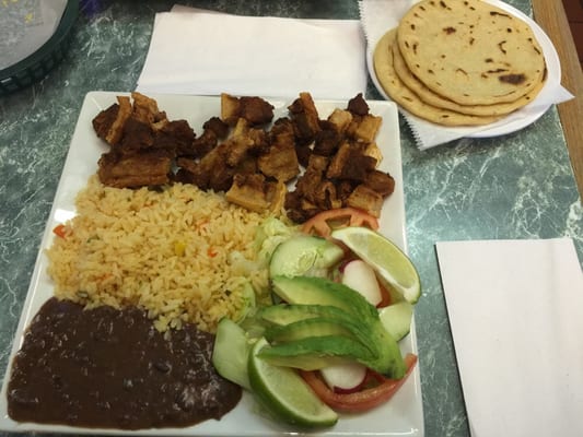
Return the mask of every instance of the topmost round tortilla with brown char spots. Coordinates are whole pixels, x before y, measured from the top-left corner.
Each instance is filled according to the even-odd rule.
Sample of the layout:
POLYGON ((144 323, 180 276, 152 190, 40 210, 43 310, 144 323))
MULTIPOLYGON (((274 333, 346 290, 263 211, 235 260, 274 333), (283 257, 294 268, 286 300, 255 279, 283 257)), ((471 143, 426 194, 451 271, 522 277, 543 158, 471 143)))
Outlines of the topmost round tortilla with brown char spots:
POLYGON ((514 102, 545 78, 533 29, 481 0, 424 0, 397 32, 409 70, 434 93, 460 105, 514 102))

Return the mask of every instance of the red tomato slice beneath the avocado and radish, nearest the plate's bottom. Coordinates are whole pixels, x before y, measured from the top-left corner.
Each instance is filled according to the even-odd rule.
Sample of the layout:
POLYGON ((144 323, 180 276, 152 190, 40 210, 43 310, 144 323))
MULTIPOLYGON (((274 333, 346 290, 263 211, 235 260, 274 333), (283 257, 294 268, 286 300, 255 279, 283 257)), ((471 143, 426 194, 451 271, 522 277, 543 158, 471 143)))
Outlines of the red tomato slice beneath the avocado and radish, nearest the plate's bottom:
POLYGON ((405 383, 408 376, 411 374, 417 363, 417 355, 407 354, 405 356, 405 364, 407 365, 407 373, 400 379, 389 379, 384 376, 373 373, 377 385, 364 390, 352 393, 337 393, 319 378, 317 371, 300 370, 304 380, 312 387, 312 390, 319 399, 328 406, 337 411, 348 413, 358 413, 371 410, 382 403, 387 402, 393 394, 405 383))

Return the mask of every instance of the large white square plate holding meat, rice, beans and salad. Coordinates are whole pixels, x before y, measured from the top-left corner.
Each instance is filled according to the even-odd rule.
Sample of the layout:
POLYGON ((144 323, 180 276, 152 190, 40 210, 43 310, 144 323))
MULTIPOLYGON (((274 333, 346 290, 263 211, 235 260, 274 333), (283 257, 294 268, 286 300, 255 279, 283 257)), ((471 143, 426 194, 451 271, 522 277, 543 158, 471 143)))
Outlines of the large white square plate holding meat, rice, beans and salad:
MULTIPOLYGON (((119 429, 94 429, 70 426, 16 423, 8 415, 7 385, 11 364, 22 345, 23 334, 40 306, 53 296, 53 283, 47 275, 45 249, 50 247, 53 228, 75 214, 74 198, 97 169, 97 160, 108 146, 100 140, 92 127, 92 119, 102 109, 116 102, 116 96, 124 93, 92 92, 85 96, 75 127, 69 154, 65 163, 61 179, 57 188, 53 210, 43 236, 36 259, 33 277, 20 319, 0 397, 0 429, 10 432, 46 432, 72 434, 125 434, 125 435, 203 435, 203 436, 267 436, 273 434, 296 434, 291 427, 276 423, 257 414, 252 397, 244 393, 240 404, 224 415, 222 420, 210 420, 187 428, 143 429, 120 432, 119 429)), ((219 97, 151 95, 161 110, 165 110, 170 120, 185 119, 195 132, 201 133, 202 123, 212 116, 220 115, 219 97)), ((276 119, 287 116, 291 102, 271 99, 276 119)), ((316 102, 320 118, 327 117, 335 108, 346 108, 347 102, 316 102)), ((405 200, 403 192, 403 173, 400 157, 399 125, 397 107, 390 102, 369 102, 371 113, 383 117, 383 125, 376 138, 383 152, 380 168, 389 172, 395 178, 395 192, 385 201, 381 216, 381 232, 403 249, 405 240, 405 200)), ((403 352, 417 354, 415 324, 411 333, 400 342, 403 352)), ((322 432, 326 436, 375 435, 375 436, 422 436, 423 412, 419 366, 395 397, 386 404, 364 414, 342 415, 338 424, 322 432)))

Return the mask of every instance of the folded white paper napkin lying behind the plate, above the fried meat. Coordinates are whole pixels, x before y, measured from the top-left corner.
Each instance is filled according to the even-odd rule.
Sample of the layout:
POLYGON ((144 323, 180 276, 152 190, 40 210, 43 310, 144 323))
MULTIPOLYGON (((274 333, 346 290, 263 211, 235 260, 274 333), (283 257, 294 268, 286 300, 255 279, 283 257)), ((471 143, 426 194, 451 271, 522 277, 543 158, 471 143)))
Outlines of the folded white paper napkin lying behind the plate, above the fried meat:
POLYGON ((357 20, 240 16, 188 8, 156 14, 143 93, 348 99, 366 90, 357 20))

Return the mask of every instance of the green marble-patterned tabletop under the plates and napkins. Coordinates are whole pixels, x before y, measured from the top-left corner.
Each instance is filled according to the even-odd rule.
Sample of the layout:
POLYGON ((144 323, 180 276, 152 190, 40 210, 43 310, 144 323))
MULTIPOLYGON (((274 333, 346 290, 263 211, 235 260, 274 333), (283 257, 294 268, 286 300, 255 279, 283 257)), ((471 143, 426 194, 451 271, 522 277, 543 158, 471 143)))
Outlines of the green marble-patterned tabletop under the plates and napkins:
MULTIPOLYGON (((88 1, 65 62, 34 86, 0 98, 0 375, 83 96, 131 91, 155 12, 173 1, 88 1)), ((509 3, 530 14, 529 0, 509 3)), ((358 19, 357 1, 236 0, 182 4, 248 15, 358 19)), ((368 98, 381 98, 372 85, 368 98)), ((506 137, 464 139, 427 152, 401 120, 409 252, 423 297, 416 309, 425 435, 469 435, 434 244, 480 238, 575 240, 583 209, 555 108, 506 137)))

